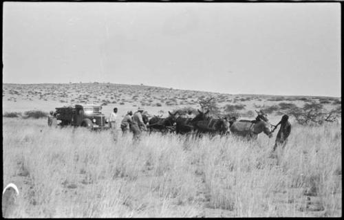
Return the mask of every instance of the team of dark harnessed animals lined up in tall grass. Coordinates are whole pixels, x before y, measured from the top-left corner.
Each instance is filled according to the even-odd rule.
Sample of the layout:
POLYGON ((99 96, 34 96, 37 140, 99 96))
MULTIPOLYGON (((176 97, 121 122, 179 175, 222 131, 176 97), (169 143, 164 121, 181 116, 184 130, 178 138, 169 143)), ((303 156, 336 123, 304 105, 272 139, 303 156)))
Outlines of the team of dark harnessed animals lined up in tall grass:
POLYGON ((267 115, 262 111, 258 113, 255 120, 237 120, 237 117, 230 118, 213 118, 208 115, 209 111, 203 112, 197 110, 198 114, 194 118, 185 118, 178 111, 171 113, 167 118, 154 116, 148 119, 147 115, 143 118, 148 122, 149 132, 160 131, 162 133, 175 132, 176 134, 202 135, 239 135, 250 138, 257 138, 257 135, 264 132, 268 137, 272 137, 272 125, 268 121, 267 115))

